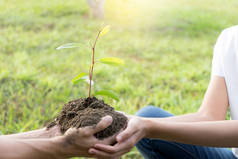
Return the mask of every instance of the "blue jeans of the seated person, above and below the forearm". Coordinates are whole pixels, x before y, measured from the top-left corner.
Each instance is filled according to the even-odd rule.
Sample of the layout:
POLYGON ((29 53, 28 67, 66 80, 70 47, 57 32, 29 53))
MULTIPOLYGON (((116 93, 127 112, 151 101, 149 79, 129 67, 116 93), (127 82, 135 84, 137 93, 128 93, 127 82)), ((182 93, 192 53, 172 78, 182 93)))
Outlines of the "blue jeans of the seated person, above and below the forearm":
MULTIPOLYGON (((146 106, 136 115, 153 118, 173 116, 154 106, 146 106)), ((136 147, 145 159, 237 159, 227 148, 195 146, 159 139, 144 138, 136 147)))

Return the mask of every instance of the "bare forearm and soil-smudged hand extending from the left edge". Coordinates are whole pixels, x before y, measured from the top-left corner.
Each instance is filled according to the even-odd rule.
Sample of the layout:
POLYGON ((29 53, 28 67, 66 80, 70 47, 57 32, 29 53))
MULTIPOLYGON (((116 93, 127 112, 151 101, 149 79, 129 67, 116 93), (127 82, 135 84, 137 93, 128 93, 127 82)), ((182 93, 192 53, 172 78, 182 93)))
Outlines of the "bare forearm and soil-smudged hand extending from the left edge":
MULTIPOLYGON (((96 126, 71 128, 64 135, 52 138, 10 138, 0 136, 1 159, 62 159, 91 157, 88 149, 96 143, 112 144, 115 136, 98 140, 94 134, 107 128, 111 117, 104 117, 96 126)), ((29 133, 31 134, 31 133, 29 133)), ((34 133, 33 133, 34 134, 34 133)), ((23 135, 24 136, 24 135, 23 135)), ((33 135, 33 137, 36 137, 33 135)))

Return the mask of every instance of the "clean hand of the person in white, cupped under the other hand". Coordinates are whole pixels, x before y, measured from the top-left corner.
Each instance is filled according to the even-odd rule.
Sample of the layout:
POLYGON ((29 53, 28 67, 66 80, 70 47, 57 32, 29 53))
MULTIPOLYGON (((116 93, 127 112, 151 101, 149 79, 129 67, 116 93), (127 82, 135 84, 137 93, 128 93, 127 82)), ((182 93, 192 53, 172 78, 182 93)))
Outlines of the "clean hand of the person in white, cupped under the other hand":
POLYGON ((89 153, 98 159, 117 159, 129 152, 134 145, 146 135, 144 119, 136 116, 128 116, 127 128, 117 135, 117 143, 113 146, 95 144, 89 153))

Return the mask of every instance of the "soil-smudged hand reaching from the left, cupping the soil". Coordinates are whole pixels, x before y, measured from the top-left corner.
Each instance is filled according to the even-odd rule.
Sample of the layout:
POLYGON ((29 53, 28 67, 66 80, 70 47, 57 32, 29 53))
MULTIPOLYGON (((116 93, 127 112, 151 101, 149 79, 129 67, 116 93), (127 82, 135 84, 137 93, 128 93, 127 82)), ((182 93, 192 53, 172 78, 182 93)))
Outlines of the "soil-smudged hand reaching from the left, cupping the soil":
POLYGON ((55 144, 60 145, 58 149, 59 158, 68 157, 93 157, 89 154, 89 148, 95 144, 106 144, 110 145, 115 143, 115 136, 106 138, 104 140, 98 140, 94 137, 94 134, 104 130, 112 123, 112 117, 106 116, 94 127, 84 128, 70 128, 64 134, 64 136, 56 137, 54 139, 55 144))

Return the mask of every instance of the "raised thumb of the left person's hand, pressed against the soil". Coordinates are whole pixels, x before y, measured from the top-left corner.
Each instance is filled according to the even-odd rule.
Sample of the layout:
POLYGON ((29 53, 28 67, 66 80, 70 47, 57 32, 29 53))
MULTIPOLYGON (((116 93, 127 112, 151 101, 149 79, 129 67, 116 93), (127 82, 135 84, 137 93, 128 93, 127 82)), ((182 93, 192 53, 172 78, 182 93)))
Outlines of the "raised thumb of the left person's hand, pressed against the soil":
POLYGON ((103 118, 101 119, 101 121, 96 125, 96 127, 93 128, 93 129, 91 129, 91 130, 92 130, 91 133, 92 133, 92 134, 95 134, 95 133, 97 133, 97 132, 100 132, 100 131, 106 129, 108 126, 111 125, 112 120, 113 120, 112 117, 109 116, 109 115, 103 117, 103 118))

